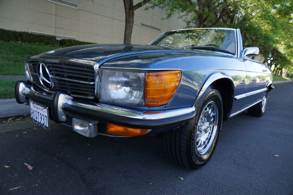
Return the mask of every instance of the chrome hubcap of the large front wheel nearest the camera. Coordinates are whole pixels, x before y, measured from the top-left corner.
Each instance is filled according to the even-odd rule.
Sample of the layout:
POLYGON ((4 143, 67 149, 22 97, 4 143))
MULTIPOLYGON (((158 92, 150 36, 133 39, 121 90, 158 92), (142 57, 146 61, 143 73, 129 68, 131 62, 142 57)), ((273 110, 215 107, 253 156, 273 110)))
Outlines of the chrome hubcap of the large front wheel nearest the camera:
POLYGON ((209 102, 202 110, 196 129, 196 150, 199 154, 205 154, 217 132, 218 107, 215 102, 209 102))

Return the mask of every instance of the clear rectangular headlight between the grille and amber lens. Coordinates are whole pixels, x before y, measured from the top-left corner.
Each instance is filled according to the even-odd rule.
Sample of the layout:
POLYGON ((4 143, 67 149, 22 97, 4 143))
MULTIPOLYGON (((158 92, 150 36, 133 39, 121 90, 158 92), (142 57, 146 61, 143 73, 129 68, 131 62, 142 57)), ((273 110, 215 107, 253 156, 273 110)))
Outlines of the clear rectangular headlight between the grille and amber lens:
POLYGON ((145 106, 145 73, 101 69, 98 79, 100 101, 145 106))

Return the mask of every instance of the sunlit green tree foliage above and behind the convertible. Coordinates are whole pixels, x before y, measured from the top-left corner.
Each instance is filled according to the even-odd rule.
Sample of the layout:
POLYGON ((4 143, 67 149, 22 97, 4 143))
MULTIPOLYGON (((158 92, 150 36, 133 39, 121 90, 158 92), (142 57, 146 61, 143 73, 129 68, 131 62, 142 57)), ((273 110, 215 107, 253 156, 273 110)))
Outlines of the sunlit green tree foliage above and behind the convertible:
MULTIPOLYGON (((274 65, 276 75, 293 68, 292 0, 153 0, 162 6, 166 19, 173 15, 187 27, 241 29, 243 45, 257 46, 263 63, 274 65)), ((292 70, 293 71, 293 70, 292 70)))

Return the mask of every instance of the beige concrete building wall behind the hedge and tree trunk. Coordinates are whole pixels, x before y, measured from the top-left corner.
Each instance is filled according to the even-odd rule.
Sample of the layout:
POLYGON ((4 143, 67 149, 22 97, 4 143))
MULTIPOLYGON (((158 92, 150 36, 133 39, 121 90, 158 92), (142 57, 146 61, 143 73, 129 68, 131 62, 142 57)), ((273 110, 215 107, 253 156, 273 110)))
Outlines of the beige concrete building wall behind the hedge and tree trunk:
MULTIPOLYGON (((123 43, 125 13, 123 0, 67 0, 79 9, 47 0, 0 0, 0 28, 36 31, 74 37, 96 43, 123 43)), ((140 0, 134 0, 134 3, 140 0)), ((148 44, 162 32, 182 29, 185 23, 156 7, 135 11, 132 44, 148 44), (161 29, 142 27, 141 23, 161 29)))

